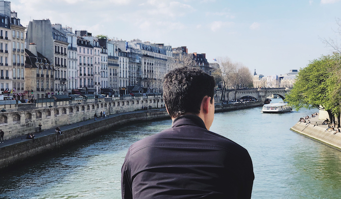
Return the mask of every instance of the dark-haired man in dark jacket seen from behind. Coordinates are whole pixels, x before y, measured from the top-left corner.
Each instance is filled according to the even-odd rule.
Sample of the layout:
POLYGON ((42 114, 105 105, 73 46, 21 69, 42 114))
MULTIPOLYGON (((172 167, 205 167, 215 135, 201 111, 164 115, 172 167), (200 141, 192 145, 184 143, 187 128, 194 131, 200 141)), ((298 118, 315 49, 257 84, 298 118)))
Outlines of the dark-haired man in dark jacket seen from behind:
POLYGON ((209 131, 212 76, 196 68, 170 71, 163 84, 172 127, 133 144, 122 167, 123 198, 250 198, 248 151, 209 131))

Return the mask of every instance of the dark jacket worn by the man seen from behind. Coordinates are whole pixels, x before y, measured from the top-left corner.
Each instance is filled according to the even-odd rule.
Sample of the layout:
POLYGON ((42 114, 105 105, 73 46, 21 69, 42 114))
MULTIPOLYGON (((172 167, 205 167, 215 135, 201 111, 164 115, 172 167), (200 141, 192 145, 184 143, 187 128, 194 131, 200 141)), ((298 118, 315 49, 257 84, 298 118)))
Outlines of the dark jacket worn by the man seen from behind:
POLYGON ((254 178, 246 149, 183 115, 129 148, 122 198, 250 198, 254 178))

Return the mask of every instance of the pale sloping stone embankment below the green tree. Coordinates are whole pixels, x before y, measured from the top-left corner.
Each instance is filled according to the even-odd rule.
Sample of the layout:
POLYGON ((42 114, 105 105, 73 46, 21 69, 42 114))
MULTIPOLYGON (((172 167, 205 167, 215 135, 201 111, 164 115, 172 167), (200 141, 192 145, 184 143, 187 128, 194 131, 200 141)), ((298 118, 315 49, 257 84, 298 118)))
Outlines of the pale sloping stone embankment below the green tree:
POLYGON ((325 131, 325 126, 297 122, 291 130, 341 151, 341 133, 333 134, 334 131, 325 131))

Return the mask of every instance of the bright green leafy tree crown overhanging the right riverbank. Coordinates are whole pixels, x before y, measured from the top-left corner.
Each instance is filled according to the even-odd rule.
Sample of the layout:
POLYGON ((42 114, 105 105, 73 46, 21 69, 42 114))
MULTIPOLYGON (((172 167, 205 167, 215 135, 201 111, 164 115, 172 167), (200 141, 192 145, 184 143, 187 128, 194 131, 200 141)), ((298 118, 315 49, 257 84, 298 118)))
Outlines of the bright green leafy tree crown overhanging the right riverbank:
POLYGON ((337 104, 340 97, 335 95, 334 90, 339 88, 341 91, 341 86, 336 87, 337 78, 334 75, 339 63, 339 54, 322 56, 311 61, 306 68, 300 70, 294 88, 285 96, 285 101, 296 110, 302 107, 322 107, 324 110, 338 109, 336 112, 339 112, 337 104))

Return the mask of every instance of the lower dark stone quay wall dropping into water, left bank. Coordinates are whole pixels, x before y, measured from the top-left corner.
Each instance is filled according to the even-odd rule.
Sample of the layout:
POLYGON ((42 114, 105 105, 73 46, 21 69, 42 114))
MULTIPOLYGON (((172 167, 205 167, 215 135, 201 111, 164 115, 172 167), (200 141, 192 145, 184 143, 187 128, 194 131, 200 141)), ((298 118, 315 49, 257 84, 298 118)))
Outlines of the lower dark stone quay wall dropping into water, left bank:
POLYGON ((51 133, 50 135, 34 139, 34 142, 32 140, 22 140, 19 143, 0 148, 2 154, 0 156, 0 169, 17 164, 33 156, 65 148, 76 141, 94 135, 97 132, 111 129, 116 125, 158 118, 170 117, 165 110, 122 113, 114 117, 98 119, 96 122, 63 130, 62 136, 51 133))

